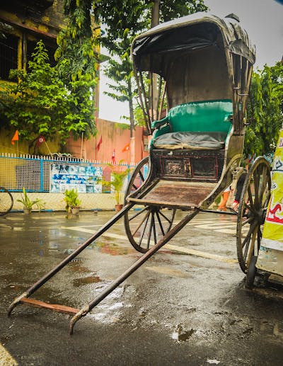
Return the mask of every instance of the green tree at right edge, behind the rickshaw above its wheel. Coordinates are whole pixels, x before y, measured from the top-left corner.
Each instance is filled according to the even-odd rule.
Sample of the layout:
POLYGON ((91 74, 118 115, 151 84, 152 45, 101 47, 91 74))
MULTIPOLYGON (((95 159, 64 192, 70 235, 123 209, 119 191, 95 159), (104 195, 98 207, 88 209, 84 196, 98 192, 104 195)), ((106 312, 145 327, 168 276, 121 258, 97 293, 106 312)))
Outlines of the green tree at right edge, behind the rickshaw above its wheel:
POLYGON ((283 64, 253 72, 248 101, 244 155, 257 156, 275 151, 283 122, 283 64))

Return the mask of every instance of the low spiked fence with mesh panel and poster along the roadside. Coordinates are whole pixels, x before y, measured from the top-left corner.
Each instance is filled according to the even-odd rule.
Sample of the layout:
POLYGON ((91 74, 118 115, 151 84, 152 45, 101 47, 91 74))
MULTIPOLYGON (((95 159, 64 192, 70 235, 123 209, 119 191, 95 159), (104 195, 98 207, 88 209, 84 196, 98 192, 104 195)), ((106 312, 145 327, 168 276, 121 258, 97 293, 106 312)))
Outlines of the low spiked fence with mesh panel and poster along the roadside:
MULTIPOLYGON (((127 168, 132 169, 134 165, 115 164, 115 171, 127 168)), ((111 170, 108 162, 72 156, 0 153, 0 185, 12 192, 20 192, 24 187, 28 192, 38 193, 63 193, 71 188, 80 193, 109 193, 111 170)))

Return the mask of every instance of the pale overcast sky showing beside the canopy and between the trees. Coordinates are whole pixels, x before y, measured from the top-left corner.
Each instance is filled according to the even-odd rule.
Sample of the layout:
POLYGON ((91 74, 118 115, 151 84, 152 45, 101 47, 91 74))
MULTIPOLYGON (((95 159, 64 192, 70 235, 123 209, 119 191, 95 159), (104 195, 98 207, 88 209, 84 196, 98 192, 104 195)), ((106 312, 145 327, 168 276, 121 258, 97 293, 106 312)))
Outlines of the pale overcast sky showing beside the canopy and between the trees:
MULTIPOLYGON (((272 66, 283 56, 283 5, 282 0, 204 0, 210 12, 224 17, 235 13, 256 47, 255 68, 264 64, 272 66)), ((103 95, 107 91, 106 79, 100 74, 99 117, 115 122, 125 122, 120 117, 129 115, 127 103, 114 101, 103 95)))

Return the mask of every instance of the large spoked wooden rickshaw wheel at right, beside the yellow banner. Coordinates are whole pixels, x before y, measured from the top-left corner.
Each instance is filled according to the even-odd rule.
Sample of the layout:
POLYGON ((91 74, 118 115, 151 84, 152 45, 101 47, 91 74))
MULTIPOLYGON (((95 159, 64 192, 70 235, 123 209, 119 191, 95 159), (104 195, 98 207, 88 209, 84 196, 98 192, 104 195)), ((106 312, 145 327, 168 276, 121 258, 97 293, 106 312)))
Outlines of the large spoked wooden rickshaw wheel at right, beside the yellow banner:
MULTIPOLYGON (((270 164, 260 156, 255 159, 246 176, 238 207, 237 254, 243 273, 247 273, 249 266, 255 266, 256 263, 255 258, 262 239, 262 225, 270 200, 270 187, 270 164)), ((251 270, 251 273, 255 271, 251 270)))

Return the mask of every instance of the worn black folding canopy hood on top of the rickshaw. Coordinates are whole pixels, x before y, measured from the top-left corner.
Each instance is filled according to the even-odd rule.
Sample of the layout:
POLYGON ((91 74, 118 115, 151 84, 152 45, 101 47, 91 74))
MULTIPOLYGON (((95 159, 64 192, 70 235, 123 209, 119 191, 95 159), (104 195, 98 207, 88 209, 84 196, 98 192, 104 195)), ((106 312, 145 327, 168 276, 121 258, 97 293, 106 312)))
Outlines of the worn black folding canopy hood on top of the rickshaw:
POLYGON ((135 67, 162 75, 176 53, 219 47, 219 40, 229 52, 254 64, 255 46, 250 44, 246 31, 232 15, 221 19, 208 13, 195 13, 151 28, 132 43, 135 67))

